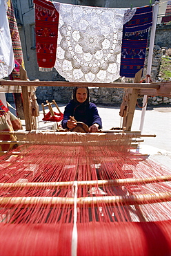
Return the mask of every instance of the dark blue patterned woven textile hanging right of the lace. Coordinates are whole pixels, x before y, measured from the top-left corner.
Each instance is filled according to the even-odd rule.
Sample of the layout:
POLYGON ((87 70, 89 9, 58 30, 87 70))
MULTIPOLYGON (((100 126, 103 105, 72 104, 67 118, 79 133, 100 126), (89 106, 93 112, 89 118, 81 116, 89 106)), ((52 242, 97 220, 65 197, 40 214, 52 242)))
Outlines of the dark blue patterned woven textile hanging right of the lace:
POLYGON ((120 75, 134 77, 144 66, 148 30, 152 26, 152 6, 137 8, 123 26, 120 75))

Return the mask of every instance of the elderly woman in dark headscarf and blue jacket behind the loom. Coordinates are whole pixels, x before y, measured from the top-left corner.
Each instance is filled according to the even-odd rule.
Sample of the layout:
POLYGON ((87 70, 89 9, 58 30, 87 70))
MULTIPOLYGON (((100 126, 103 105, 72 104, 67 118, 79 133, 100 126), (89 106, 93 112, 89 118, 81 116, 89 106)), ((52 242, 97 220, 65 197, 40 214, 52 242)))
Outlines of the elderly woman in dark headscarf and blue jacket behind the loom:
POLYGON ((78 122, 84 122, 88 125, 90 132, 96 132, 101 129, 102 122, 97 106, 89 102, 88 87, 74 87, 72 98, 63 113, 61 122, 63 129, 73 129, 77 126, 77 122, 71 120, 70 116, 74 117, 78 122))

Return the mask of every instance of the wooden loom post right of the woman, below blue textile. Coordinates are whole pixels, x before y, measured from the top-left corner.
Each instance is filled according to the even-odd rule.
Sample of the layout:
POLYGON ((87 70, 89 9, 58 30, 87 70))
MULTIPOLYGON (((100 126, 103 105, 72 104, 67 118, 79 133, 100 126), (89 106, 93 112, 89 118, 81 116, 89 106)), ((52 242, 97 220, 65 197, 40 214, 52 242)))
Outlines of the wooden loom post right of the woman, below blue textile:
MULTIPOLYGON (((136 73, 134 77, 134 83, 141 81, 142 71, 143 70, 141 69, 136 73)), ((128 115, 123 118, 123 127, 125 127, 125 131, 130 131, 134 118, 134 110, 137 104, 139 89, 125 89, 125 93, 128 94, 128 115)))

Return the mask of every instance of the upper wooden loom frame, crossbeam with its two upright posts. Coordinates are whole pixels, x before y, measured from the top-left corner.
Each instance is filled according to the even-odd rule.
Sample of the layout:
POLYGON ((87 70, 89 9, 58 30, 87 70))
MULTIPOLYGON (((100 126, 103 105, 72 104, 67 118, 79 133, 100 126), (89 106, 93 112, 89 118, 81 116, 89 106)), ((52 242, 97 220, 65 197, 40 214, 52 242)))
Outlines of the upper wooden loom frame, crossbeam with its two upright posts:
POLYGON ((27 72, 20 66, 21 80, 0 80, 0 86, 4 88, 4 92, 8 92, 10 86, 21 86, 21 91, 23 94, 23 112, 26 121, 26 131, 32 130, 32 117, 29 108, 29 91, 30 87, 37 86, 88 86, 88 87, 104 87, 104 88, 123 88, 128 94, 128 106, 129 112, 128 116, 123 118, 123 126, 126 131, 131 130, 132 120, 134 117, 134 109, 136 106, 138 95, 153 95, 153 96, 171 96, 171 81, 168 82, 151 82, 151 83, 140 83, 142 70, 139 71, 136 76, 134 83, 123 83, 123 82, 113 82, 113 83, 77 83, 77 82, 63 82, 63 81, 29 81, 27 80, 27 72))

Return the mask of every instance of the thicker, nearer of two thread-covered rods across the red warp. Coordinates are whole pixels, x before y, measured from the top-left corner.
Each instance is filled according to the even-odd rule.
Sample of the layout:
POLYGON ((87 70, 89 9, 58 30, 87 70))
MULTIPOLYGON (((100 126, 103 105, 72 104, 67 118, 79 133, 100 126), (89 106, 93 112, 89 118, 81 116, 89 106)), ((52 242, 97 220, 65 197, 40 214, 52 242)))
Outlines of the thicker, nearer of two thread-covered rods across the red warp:
MULTIPOLYGON (((78 207, 83 205, 94 205, 99 204, 110 204, 112 205, 143 205, 149 203, 160 203, 171 200, 170 192, 161 192, 156 194, 139 194, 130 196, 91 196, 91 197, 78 197, 77 205, 78 207)), ((20 208, 25 207, 37 207, 41 205, 43 208, 46 207, 62 207, 63 205, 68 205, 68 207, 73 207, 74 198, 72 197, 1 197, 0 206, 11 208, 20 205, 20 208)))

